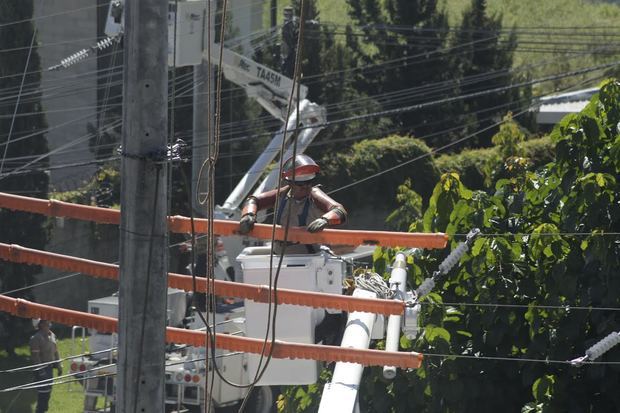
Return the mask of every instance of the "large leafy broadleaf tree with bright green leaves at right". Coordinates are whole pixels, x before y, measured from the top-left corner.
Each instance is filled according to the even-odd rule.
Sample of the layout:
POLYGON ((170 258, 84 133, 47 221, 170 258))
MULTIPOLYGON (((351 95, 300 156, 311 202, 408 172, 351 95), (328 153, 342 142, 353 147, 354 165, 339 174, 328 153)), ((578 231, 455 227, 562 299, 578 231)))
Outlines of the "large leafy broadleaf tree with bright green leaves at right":
MULTIPOLYGON (((419 337, 401 340, 404 350, 429 354, 422 368, 401 372, 393 382, 384 381, 379 369, 369 371, 360 392, 362 410, 620 409, 614 365, 485 359, 571 360, 620 330, 614 311, 570 308, 620 304, 620 249, 616 235, 605 235, 620 232, 619 122, 620 82, 610 81, 582 113, 556 126, 554 162, 536 171, 504 168, 489 192, 467 189, 457 174, 442 176, 411 228, 444 231, 452 247, 458 234, 474 227, 489 235, 478 238, 424 300, 419 337)), ((419 285, 446 253, 415 255, 411 284, 419 285)), ((377 258, 382 271, 393 251, 377 258)), ((615 348, 602 361, 619 357, 615 348)))

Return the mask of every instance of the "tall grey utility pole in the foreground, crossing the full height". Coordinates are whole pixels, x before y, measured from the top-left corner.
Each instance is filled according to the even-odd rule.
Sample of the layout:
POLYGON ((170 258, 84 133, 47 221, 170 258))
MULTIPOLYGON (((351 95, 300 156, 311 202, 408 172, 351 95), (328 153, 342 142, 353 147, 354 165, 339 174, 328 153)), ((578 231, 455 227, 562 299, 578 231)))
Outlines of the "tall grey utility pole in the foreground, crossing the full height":
POLYGON ((125 1, 117 412, 164 411, 168 1, 125 1))

